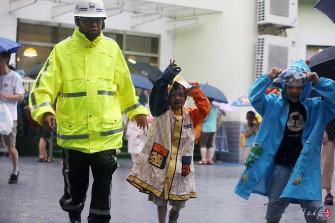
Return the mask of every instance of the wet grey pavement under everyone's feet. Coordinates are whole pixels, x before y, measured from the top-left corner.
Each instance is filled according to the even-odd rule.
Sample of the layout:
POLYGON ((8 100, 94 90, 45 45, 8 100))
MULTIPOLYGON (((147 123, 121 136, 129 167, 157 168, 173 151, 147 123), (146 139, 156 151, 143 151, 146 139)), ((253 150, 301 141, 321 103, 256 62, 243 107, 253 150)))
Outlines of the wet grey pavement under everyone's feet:
MULTIPOLYGON (((111 222, 158 222, 155 205, 147 201, 147 195, 139 193, 125 180, 131 161, 119 160, 119 163, 120 168, 113 174, 111 222)), ((0 222, 68 222, 66 212, 58 204, 63 193, 61 168, 59 159, 53 163, 38 163, 37 158, 20 157, 19 182, 8 184, 11 162, 9 158, 0 157, 0 222)), ((233 193, 242 168, 241 165, 228 164, 196 165, 198 198, 186 202, 186 208, 181 210, 179 223, 265 222, 266 197, 252 194, 246 201, 233 193)), ((82 222, 87 222, 91 183, 92 178, 82 212, 82 222)), ((331 212, 328 222, 335 222, 333 206, 326 208, 330 208, 331 212)), ((300 206, 291 204, 280 222, 306 221, 300 206)))

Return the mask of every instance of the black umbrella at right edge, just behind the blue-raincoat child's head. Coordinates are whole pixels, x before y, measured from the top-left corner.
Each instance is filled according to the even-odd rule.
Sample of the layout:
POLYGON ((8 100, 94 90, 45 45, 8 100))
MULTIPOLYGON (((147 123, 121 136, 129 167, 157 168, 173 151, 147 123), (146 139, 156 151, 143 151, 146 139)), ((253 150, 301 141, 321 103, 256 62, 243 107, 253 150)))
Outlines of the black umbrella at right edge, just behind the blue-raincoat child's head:
MULTIPOLYGON (((334 1, 335 2, 335 1, 334 1)), ((335 79, 335 46, 323 49, 310 59, 308 66, 319 77, 335 79)))

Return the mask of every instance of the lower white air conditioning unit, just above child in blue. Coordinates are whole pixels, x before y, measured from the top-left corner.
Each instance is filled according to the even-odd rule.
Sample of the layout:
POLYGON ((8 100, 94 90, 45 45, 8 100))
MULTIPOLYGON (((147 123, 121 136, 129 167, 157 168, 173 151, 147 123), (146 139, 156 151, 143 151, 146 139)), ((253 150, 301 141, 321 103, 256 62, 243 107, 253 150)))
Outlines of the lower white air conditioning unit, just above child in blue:
POLYGON ((274 66, 286 69, 295 60, 295 40, 275 35, 257 36, 255 79, 274 66))

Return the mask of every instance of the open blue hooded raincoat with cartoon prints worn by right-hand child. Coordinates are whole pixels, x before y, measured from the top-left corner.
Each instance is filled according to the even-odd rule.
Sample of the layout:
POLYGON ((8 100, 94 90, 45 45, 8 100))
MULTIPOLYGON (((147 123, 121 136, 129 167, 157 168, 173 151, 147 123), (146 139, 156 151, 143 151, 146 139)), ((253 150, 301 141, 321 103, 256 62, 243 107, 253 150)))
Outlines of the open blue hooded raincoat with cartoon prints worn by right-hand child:
MULTIPOLYGON (((298 60, 290 68, 303 68, 311 72, 303 60, 298 60)), ((252 106, 263 117, 257 136, 245 164, 244 171, 235 188, 235 193, 244 199, 249 199, 251 193, 267 196, 267 183, 270 180, 274 160, 282 141, 288 119, 289 99, 285 94, 283 84, 282 98, 276 94, 265 95, 272 80, 267 73, 260 77, 249 91, 252 106)), ((301 140, 303 149, 295 163, 290 179, 280 198, 321 201, 321 170, 320 152, 325 124, 335 116, 335 82, 320 78, 314 86, 321 97, 307 98, 312 84, 307 82, 300 102, 306 108, 307 120, 301 140)))

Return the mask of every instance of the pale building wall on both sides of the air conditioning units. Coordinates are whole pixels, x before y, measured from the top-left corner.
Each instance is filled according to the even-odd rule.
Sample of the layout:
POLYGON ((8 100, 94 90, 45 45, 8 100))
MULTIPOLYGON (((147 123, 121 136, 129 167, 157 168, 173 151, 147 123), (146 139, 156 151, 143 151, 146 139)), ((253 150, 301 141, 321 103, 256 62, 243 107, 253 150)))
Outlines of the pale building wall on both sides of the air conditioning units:
MULTIPOLYGON (((213 3, 195 1, 194 4, 206 8, 209 2, 213 3)), ((316 2, 299 0, 298 25, 286 30, 287 37, 296 40, 296 59, 306 59, 307 45, 335 45, 335 25, 312 9, 316 2)), ((221 0, 212 6, 215 6, 213 10, 222 10, 222 14, 199 17, 198 24, 175 32, 174 55, 182 66, 182 76, 208 82, 234 100, 247 94, 254 82, 257 1, 221 0)), ((225 120, 245 122, 249 109, 252 108, 241 107, 240 114, 227 113, 225 120)))

